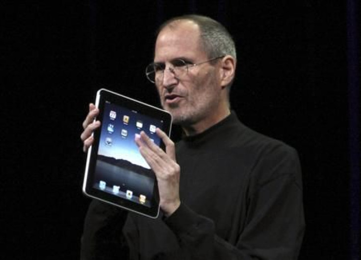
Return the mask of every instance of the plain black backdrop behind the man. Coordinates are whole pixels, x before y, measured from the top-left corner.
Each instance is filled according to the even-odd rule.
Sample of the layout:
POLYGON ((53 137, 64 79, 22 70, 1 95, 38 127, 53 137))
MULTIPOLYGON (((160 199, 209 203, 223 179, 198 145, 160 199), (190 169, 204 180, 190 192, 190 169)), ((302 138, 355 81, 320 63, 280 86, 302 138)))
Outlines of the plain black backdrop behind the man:
POLYGON ((346 2, 29 1, 0 10, 0 237, 9 259, 78 259, 89 203, 79 139, 88 103, 105 87, 158 105, 144 75, 154 32, 184 13, 229 28, 238 50, 232 108, 299 152, 307 222, 300 259, 360 259, 350 221, 360 198, 350 199, 346 2))

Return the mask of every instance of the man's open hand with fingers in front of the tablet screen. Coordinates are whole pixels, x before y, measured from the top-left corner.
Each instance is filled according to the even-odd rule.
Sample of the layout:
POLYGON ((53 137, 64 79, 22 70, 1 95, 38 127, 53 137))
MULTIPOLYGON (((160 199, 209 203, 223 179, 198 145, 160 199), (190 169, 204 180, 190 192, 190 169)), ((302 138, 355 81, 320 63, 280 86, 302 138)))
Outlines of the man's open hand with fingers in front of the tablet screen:
POLYGON ((164 152, 142 131, 135 138, 139 151, 155 172, 159 189, 159 205, 165 216, 170 216, 180 206, 180 166, 176 162, 174 142, 159 128, 156 134, 165 144, 164 152))

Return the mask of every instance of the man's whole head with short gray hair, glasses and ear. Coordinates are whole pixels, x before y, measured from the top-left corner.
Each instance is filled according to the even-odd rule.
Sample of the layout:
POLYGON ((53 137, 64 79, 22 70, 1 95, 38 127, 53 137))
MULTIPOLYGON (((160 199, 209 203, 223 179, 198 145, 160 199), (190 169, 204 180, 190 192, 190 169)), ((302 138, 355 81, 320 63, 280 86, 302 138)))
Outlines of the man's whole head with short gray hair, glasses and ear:
POLYGON ((182 16, 160 26, 155 84, 163 108, 186 134, 202 132, 229 114, 235 55, 227 30, 210 18, 182 16))

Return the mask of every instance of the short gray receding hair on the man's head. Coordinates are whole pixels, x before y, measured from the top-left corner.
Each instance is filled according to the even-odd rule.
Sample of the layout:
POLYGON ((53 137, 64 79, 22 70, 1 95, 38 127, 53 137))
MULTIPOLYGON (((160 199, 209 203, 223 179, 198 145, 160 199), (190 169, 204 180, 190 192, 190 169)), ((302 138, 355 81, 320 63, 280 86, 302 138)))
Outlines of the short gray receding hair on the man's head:
POLYGON ((237 58, 231 34, 222 24, 206 16, 183 15, 172 18, 159 26, 156 35, 164 27, 180 20, 189 20, 199 26, 201 44, 209 59, 223 55, 231 55, 234 59, 237 58))

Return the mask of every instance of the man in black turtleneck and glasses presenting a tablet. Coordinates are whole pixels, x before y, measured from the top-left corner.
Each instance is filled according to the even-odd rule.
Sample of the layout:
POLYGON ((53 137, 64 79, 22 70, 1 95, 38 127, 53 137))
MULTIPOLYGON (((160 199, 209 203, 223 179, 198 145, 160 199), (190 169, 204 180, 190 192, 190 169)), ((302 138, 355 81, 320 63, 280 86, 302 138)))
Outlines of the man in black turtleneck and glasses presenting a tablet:
MULTIPOLYGON (((150 219, 94 200, 82 259, 297 259, 304 233, 299 160, 231 112, 235 66, 232 38, 216 21, 191 15, 160 27, 147 76, 184 138, 175 146, 157 129, 165 152, 145 133, 134 142, 155 172, 162 214, 150 219)), ((84 151, 100 126, 97 114, 90 104, 84 151)))

